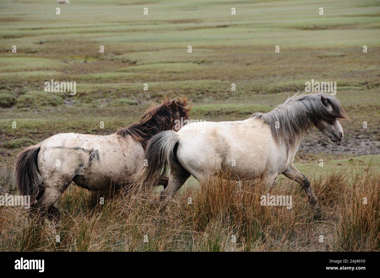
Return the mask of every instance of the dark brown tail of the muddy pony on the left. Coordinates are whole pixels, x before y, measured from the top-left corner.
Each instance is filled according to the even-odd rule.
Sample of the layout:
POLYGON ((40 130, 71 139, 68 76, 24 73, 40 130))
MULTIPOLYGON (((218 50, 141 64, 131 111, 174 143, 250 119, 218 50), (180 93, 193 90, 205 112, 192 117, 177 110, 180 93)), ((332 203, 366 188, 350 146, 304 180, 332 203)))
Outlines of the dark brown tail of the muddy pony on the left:
POLYGON ((30 196, 30 204, 35 203, 44 192, 44 185, 38 181, 38 152, 40 145, 30 146, 22 151, 14 163, 14 181, 19 192, 24 196, 30 196))

